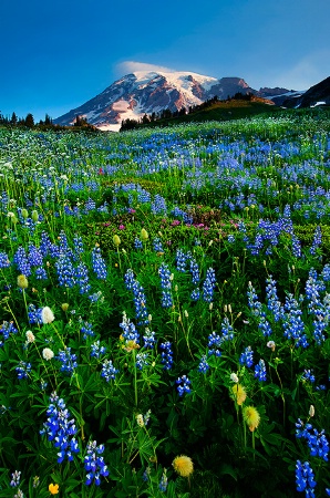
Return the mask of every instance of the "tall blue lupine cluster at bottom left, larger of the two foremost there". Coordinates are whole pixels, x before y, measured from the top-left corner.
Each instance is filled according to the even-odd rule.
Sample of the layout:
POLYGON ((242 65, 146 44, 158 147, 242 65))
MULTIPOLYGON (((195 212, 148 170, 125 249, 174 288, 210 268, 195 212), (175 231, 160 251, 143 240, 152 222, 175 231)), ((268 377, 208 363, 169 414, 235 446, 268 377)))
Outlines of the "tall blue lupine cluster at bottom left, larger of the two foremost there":
POLYGON ((62 464, 65 457, 72 461, 73 454, 80 452, 78 442, 73 437, 78 429, 64 401, 55 392, 50 396, 47 415, 48 419, 40 434, 47 434, 48 440, 54 442, 54 446, 58 448, 58 464, 62 464))

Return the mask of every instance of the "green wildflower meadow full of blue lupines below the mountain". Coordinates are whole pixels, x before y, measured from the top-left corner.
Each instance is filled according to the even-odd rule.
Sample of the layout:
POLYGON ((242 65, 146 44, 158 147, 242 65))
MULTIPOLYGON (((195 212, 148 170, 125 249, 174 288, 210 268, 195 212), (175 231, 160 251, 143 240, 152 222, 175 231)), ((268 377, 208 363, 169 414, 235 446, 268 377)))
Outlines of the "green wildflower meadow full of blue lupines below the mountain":
POLYGON ((330 113, 0 128, 0 498, 330 495, 330 113))

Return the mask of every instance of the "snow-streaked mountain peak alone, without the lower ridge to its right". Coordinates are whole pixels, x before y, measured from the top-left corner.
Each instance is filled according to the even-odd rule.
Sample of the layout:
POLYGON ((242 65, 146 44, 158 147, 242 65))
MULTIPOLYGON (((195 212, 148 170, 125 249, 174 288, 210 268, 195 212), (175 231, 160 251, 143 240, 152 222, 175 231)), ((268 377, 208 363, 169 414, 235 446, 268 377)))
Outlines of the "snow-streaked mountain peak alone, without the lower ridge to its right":
POLYGON ((140 120, 165 108, 188 110, 214 96, 227 98, 237 92, 256 93, 239 77, 217 80, 190 72, 136 71, 53 122, 72 125, 79 115, 100 129, 118 131, 123 120, 140 120))

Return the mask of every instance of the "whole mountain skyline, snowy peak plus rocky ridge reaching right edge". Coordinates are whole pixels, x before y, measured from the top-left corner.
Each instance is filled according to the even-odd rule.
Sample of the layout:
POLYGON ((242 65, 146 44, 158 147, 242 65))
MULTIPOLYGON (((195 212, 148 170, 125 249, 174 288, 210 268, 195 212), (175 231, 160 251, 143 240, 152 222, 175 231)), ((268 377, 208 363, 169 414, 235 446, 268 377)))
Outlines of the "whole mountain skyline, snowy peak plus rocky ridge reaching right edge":
POLYGON ((104 131, 118 131, 124 120, 140 121, 145 114, 172 113, 203 104, 214 97, 226 100, 248 93, 269 105, 297 108, 330 104, 330 77, 307 91, 264 86, 255 90, 237 76, 214 77, 187 71, 135 71, 116 80, 103 92, 62 116, 54 124, 73 125, 76 116, 104 131))

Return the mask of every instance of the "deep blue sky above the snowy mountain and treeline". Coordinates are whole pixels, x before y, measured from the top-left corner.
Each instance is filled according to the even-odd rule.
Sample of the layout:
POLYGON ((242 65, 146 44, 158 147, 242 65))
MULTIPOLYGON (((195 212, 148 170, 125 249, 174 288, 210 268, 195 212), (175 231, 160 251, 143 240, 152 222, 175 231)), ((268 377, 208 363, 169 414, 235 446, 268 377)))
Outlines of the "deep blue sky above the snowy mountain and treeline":
POLYGON ((330 75, 330 0, 1 0, 0 112, 78 107, 141 64, 305 90, 330 75))

